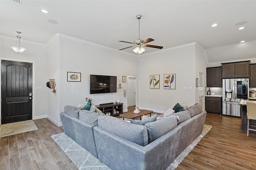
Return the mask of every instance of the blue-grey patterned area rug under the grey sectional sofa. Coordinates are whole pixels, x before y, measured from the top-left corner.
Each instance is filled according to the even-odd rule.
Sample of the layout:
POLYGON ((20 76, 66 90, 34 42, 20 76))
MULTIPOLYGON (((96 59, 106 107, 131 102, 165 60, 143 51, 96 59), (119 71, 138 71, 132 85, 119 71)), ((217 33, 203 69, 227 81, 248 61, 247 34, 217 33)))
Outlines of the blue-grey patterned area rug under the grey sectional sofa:
MULTIPOLYGON (((180 155, 168 166, 166 170, 174 170, 180 162, 194 149, 198 142, 210 131, 211 125, 204 124, 202 134, 199 135, 180 155)), ((108 166, 100 162, 90 152, 78 145, 65 133, 52 135, 52 139, 60 146, 66 155, 72 160, 79 170, 110 170, 108 166)))

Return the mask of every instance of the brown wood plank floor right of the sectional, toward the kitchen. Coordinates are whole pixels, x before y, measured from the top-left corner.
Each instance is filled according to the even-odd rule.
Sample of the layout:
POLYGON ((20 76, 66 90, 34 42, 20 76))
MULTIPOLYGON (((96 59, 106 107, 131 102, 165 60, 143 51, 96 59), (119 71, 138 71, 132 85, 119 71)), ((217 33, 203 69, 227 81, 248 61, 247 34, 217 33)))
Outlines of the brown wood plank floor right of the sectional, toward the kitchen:
POLYGON ((177 170, 256 169, 256 136, 241 131, 241 118, 207 113, 212 129, 186 156, 177 170))

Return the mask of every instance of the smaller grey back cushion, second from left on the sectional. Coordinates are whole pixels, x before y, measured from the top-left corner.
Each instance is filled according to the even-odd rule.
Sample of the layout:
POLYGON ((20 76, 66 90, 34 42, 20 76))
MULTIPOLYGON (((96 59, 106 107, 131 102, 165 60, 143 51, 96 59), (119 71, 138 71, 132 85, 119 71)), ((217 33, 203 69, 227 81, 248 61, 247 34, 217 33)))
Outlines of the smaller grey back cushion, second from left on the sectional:
POLYGON ((85 121, 86 123, 92 124, 94 126, 98 126, 98 116, 100 113, 96 113, 94 111, 89 110, 81 110, 79 111, 79 119, 85 121))

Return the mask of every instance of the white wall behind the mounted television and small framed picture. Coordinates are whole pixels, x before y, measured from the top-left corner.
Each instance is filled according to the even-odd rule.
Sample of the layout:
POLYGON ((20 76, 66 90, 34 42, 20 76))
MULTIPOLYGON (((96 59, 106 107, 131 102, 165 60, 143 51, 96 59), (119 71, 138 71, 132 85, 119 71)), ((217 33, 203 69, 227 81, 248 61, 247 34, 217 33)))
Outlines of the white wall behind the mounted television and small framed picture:
POLYGON ((120 97, 124 111, 127 111, 127 96, 124 98, 123 95, 126 84, 122 83, 123 88, 117 89, 116 93, 90 94, 90 74, 117 76, 117 84, 119 80, 122 83, 122 76, 137 74, 136 55, 60 35, 60 111, 66 105, 86 104, 88 96, 95 105, 116 102, 120 97), (67 82, 67 72, 80 72, 81 82, 67 82))

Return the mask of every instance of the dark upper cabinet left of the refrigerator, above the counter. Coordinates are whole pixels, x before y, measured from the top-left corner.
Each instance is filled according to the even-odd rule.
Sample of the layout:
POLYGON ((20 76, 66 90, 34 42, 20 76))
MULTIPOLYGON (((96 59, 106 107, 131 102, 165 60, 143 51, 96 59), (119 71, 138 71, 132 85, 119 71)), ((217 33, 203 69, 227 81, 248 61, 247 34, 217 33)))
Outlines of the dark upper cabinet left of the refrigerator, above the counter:
POLYGON ((206 68, 206 86, 222 87, 221 67, 206 68))

